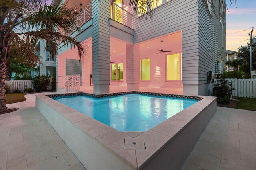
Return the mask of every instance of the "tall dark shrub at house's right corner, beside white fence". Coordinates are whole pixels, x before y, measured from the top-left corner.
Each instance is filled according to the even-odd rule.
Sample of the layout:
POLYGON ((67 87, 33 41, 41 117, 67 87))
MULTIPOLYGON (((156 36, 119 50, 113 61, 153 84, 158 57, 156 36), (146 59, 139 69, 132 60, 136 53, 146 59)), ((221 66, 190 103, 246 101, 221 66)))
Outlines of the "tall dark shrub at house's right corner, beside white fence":
POLYGON ((214 96, 217 97, 217 102, 229 103, 232 97, 232 90, 235 90, 232 82, 228 82, 225 77, 225 70, 222 74, 219 72, 219 66, 216 69, 216 84, 214 84, 214 96))

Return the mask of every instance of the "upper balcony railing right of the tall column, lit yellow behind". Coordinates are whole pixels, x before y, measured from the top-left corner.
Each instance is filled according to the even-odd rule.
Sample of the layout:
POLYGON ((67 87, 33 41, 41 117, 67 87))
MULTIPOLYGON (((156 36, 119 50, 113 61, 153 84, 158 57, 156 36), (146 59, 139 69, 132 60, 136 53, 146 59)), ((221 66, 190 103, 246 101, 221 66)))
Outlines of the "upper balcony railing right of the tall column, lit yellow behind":
POLYGON ((110 18, 132 28, 132 14, 110 0, 110 18))

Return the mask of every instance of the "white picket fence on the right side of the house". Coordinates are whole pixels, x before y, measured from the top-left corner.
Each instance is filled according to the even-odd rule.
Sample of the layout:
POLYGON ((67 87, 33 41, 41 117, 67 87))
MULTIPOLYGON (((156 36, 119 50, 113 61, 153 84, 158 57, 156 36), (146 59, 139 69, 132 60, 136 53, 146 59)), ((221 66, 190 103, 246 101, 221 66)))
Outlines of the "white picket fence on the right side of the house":
POLYGON ((256 79, 227 79, 232 81, 235 90, 234 96, 255 98, 256 97, 256 79))

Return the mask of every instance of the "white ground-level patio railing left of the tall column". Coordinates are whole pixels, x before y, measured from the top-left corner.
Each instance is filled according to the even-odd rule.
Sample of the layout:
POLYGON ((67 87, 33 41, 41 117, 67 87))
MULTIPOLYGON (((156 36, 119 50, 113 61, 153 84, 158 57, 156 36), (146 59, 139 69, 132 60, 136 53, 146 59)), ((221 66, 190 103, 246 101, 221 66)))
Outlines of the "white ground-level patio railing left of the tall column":
POLYGON ((66 89, 66 92, 79 91, 81 86, 80 74, 58 76, 58 87, 66 89))

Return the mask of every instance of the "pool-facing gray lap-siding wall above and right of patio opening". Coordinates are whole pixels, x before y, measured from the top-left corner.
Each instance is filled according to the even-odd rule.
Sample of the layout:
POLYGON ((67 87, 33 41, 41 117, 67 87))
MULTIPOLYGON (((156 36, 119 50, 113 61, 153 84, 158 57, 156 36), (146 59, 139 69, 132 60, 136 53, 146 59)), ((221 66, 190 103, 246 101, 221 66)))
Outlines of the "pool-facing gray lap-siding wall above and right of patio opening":
POLYGON ((153 19, 134 21, 134 43, 182 31, 182 83, 198 84, 197 0, 170 0, 153 10, 153 19))

